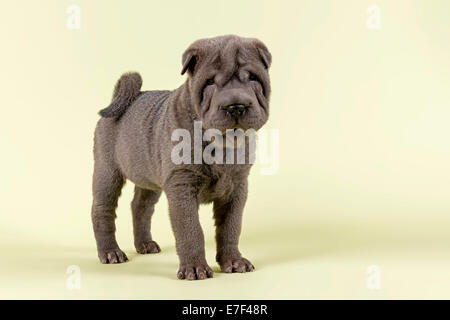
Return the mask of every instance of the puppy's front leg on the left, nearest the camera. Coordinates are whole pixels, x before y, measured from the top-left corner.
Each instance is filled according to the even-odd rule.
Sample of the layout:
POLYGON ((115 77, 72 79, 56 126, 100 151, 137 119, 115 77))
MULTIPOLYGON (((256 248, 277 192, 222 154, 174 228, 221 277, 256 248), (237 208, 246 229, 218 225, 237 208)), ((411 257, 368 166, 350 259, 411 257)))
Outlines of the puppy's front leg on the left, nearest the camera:
POLYGON ((169 214, 180 259, 179 279, 212 278, 205 258, 205 240, 198 217, 198 179, 181 172, 165 186, 169 214))

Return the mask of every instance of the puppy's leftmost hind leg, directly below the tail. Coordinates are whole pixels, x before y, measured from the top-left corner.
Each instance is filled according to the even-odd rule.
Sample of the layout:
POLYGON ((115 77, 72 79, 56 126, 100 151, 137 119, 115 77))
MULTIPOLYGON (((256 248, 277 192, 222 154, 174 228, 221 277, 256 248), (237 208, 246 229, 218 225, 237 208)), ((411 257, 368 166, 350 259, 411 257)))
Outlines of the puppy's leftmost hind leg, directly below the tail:
POLYGON ((102 263, 121 263, 128 260, 120 250, 115 236, 116 207, 125 180, 119 170, 103 161, 94 168, 92 223, 97 241, 98 257, 102 263))

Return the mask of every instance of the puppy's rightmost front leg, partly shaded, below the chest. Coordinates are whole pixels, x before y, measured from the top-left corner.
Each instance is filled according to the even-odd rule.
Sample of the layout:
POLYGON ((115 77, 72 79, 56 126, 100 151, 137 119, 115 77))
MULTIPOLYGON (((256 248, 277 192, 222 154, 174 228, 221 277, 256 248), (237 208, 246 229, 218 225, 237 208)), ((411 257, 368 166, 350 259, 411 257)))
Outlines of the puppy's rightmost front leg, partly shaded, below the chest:
POLYGON ((235 189, 226 200, 214 201, 216 221, 216 260, 223 272, 248 272, 255 267, 243 258, 239 249, 239 236, 242 226, 242 212, 247 200, 247 179, 235 189))

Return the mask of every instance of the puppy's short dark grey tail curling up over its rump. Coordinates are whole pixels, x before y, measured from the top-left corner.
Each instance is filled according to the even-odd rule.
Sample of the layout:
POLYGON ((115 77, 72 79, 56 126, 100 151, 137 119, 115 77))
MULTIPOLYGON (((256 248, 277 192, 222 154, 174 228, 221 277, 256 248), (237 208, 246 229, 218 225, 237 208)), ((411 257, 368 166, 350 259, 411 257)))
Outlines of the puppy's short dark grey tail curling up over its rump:
POLYGON ((123 74, 114 88, 113 100, 105 109, 100 110, 104 118, 120 117, 141 93, 142 78, 137 72, 123 74))

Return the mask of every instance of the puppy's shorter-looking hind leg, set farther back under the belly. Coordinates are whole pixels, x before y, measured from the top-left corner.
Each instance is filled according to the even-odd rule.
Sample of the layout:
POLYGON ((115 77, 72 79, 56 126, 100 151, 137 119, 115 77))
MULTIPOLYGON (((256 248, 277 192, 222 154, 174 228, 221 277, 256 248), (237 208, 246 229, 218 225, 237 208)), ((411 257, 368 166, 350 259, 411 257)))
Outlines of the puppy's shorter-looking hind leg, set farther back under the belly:
POLYGON ((150 232, 151 219, 155 204, 161 196, 161 191, 153 191, 135 187, 134 198, 131 202, 133 213, 134 246, 138 253, 158 253, 161 251, 153 241, 150 232))

